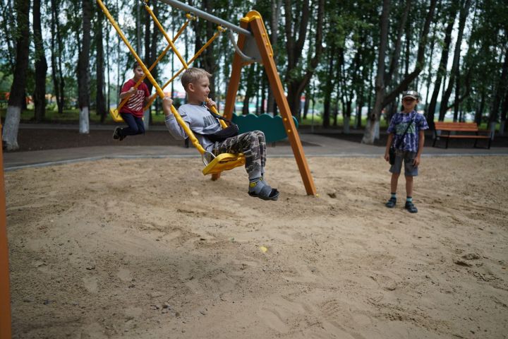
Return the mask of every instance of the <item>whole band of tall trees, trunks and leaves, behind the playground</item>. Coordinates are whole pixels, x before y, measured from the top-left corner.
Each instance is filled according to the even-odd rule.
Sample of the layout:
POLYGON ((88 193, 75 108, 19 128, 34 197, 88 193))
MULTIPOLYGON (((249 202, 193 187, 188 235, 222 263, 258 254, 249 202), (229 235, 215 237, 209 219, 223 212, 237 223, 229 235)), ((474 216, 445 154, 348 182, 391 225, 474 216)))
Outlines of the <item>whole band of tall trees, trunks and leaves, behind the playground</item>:
MULTIPOLYGON (((143 1, 104 0, 104 4, 150 66, 167 42, 143 1)), ((169 35, 175 35, 186 13, 159 1, 149 4, 169 35)), ((187 4, 234 24, 250 10, 262 14, 291 112, 298 119, 306 116, 313 100, 319 104, 324 128, 336 126, 342 114, 347 132, 350 118, 355 117, 351 126, 365 128, 364 141, 373 143, 376 124, 399 109, 403 90, 413 89, 422 95, 420 109, 430 126, 453 112, 454 120, 473 115, 478 122, 501 121, 506 129, 508 8, 504 1, 191 0, 187 4), (362 125, 362 112, 367 113, 367 126, 362 125)), ((119 88, 131 76, 133 58, 97 3, 1 0, 0 11, 0 90, 1 95, 10 93, 8 105, 24 106, 25 100, 19 98, 30 96, 37 121, 50 107, 60 113, 69 107, 89 107, 104 121, 107 109, 118 101, 119 88), (22 74, 19 66, 25 65, 25 57, 22 74)), ((190 59, 215 30, 206 20, 193 21, 177 44, 184 58, 190 59)), ((193 64, 214 74, 212 95, 218 102, 226 92, 234 52, 227 34, 193 64)), ((169 51, 152 75, 165 83, 180 67, 169 51)), ((172 93, 175 86, 170 87, 172 93)), ((238 100, 244 103, 243 113, 253 106, 257 113, 277 114, 259 65, 244 69, 238 100)), ((157 110, 157 101, 153 108, 157 110)))

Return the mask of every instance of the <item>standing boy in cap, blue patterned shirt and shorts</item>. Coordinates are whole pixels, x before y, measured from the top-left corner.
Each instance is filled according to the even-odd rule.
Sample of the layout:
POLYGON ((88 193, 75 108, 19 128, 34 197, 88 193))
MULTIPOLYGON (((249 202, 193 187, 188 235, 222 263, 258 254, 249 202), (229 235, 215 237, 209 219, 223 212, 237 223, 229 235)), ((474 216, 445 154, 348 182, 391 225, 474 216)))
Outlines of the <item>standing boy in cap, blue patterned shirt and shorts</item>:
POLYGON ((416 112, 416 105, 420 95, 414 90, 408 90, 402 94, 401 112, 394 114, 388 126, 388 141, 385 151, 385 160, 389 161, 389 148, 392 142, 395 145, 395 162, 389 169, 392 172, 390 189, 392 196, 385 204, 388 208, 394 208, 397 203, 397 183, 404 161, 404 177, 406 177, 406 205, 404 208, 410 213, 417 213, 418 209, 413 204, 413 177, 418 175, 418 165, 425 142, 425 129, 428 129, 427 120, 423 114, 416 112))

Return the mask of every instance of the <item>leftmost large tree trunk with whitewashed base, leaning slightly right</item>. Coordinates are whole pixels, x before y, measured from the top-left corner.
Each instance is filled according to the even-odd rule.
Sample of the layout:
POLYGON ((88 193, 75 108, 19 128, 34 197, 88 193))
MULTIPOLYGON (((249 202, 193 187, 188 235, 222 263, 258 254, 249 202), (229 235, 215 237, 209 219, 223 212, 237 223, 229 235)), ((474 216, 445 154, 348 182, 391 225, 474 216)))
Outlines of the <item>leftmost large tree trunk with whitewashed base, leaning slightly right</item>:
POLYGON ((16 42, 16 66, 14 68, 13 83, 11 86, 11 95, 7 104, 6 119, 2 140, 5 141, 7 150, 17 150, 18 128, 21 117, 21 108, 25 101, 25 86, 28 69, 29 52, 29 13, 30 0, 17 0, 15 5, 17 13, 17 36, 16 42))

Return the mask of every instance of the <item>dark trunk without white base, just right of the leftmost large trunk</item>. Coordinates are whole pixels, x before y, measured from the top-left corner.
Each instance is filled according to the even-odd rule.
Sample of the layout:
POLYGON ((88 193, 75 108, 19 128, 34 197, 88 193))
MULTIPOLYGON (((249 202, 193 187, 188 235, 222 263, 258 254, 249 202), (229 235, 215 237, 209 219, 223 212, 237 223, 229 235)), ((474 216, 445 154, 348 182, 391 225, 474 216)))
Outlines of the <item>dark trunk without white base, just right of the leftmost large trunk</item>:
POLYGON ((42 40, 40 0, 33 3, 33 30, 35 45, 35 121, 44 119, 46 112, 46 73, 47 62, 44 55, 44 42, 42 40))

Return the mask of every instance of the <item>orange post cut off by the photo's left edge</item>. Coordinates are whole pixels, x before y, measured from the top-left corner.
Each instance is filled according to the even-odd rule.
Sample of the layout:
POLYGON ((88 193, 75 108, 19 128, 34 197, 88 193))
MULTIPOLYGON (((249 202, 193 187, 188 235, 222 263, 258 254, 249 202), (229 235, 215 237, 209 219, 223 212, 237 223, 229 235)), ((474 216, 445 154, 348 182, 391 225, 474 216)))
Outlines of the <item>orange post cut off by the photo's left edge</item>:
MULTIPOLYGON (((1 124, 0 124, 1 131, 1 124)), ((1 132, 0 132, 1 136, 1 132)), ((0 151, 0 339, 11 339, 11 294, 9 292, 4 153, 0 151)))

